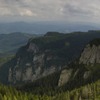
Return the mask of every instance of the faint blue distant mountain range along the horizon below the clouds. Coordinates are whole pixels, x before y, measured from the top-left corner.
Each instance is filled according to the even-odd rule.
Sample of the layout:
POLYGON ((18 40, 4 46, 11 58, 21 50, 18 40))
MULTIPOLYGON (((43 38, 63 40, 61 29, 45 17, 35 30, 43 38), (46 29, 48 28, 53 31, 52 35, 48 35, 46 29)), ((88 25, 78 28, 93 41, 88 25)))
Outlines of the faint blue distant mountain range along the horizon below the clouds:
POLYGON ((0 34, 12 32, 25 32, 32 34, 45 34, 48 31, 57 32, 72 32, 72 31, 87 31, 98 30, 99 25, 83 24, 83 23, 66 23, 66 22, 13 22, 13 23, 0 23, 0 34))

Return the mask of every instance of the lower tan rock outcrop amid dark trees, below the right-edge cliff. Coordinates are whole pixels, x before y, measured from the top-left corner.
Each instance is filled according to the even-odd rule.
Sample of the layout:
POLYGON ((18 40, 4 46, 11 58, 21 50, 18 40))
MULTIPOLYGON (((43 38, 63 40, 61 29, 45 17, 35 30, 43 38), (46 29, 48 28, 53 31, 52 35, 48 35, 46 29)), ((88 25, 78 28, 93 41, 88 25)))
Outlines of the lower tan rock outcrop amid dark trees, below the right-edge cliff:
POLYGON ((61 71, 58 86, 65 84, 77 84, 80 81, 88 80, 91 76, 91 72, 85 68, 68 68, 61 71))

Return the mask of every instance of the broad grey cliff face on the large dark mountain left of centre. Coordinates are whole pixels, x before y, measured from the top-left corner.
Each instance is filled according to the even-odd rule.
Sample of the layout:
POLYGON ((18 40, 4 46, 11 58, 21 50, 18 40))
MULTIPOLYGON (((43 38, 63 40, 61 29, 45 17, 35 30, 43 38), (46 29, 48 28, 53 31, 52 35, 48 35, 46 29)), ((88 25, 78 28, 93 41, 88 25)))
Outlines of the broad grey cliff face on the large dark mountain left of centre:
POLYGON ((49 52, 49 50, 42 52, 38 45, 32 42, 20 48, 14 58, 15 63, 9 66, 8 82, 12 84, 31 82, 60 70, 61 66, 50 63, 57 57, 49 52))

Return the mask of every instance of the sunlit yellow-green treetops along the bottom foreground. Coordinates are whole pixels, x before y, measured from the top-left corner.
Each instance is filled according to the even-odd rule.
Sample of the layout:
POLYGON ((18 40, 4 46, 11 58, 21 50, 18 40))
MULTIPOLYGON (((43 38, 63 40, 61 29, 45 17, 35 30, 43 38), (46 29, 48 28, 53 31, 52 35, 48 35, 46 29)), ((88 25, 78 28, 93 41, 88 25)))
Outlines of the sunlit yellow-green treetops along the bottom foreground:
POLYGON ((15 88, 0 85, 0 100, 100 100, 100 80, 72 91, 56 95, 34 95, 17 91, 15 88))

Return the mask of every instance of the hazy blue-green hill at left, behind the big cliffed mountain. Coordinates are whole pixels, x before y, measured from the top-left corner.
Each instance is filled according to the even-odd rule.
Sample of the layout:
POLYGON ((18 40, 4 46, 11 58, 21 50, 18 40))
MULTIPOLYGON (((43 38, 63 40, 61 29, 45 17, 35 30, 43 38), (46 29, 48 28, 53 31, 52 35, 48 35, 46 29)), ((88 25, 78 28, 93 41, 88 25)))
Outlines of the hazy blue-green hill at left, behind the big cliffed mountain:
POLYGON ((0 56, 14 54, 17 49, 25 45, 31 37, 36 37, 36 35, 20 32, 0 34, 0 56))

